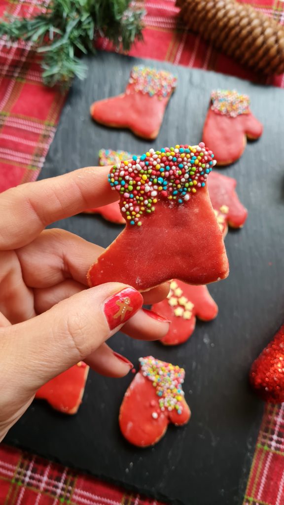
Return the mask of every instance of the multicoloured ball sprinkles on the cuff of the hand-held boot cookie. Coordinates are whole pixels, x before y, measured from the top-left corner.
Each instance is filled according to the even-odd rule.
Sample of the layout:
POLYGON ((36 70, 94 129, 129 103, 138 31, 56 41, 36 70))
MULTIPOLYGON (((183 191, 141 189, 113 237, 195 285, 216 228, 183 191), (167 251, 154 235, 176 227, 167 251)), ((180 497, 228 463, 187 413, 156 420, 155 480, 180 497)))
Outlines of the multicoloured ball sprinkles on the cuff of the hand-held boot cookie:
POLYGON ((141 226, 141 217, 155 211, 158 200, 184 204, 205 186, 216 164, 203 142, 176 145, 146 154, 112 167, 109 183, 121 195, 121 211, 131 225, 141 226))

